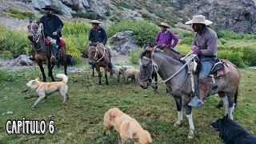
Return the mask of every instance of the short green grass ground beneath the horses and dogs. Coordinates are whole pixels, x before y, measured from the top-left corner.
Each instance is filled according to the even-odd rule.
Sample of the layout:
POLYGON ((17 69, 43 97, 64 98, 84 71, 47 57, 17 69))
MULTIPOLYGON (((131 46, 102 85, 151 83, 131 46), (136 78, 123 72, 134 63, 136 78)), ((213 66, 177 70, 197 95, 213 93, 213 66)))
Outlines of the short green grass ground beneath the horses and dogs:
MULTIPOLYGON (((39 68, 37 67, 38 73, 34 67, 8 73, 1 70, 0 143, 116 143, 117 132, 102 137, 103 117, 106 110, 112 107, 119 107, 136 118, 142 127, 149 130, 153 143, 222 143, 218 133, 211 131, 209 127, 210 122, 224 114, 223 108, 218 110, 214 107, 218 104, 218 97, 212 96, 208 98, 206 106, 193 109, 195 138, 188 139, 189 124, 184 110, 184 126, 174 127, 178 116, 173 97, 154 95, 152 89, 142 90, 133 82, 128 85, 118 84, 115 82, 116 78, 109 79, 110 86, 106 86, 102 77, 103 86, 100 87, 98 77, 91 78, 92 70, 88 69, 87 62, 83 63, 85 64, 78 66, 85 69, 82 73, 68 72, 70 99, 61 105, 61 96, 54 93, 45 103, 39 102, 36 110, 30 108, 37 98, 24 99, 26 95, 34 94, 34 90, 29 89, 25 93, 22 90, 28 89, 26 82, 41 76, 39 68), (14 82, 6 82, 6 78, 14 79, 14 82), (135 91, 138 93, 135 94, 135 91), (145 98, 144 95, 148 97, 145 98), (2 115, 7 111, 13 111, 14 114, 2 115), (54 135, 50 135, 48 131, 45 135, 7 135, 6 121, 21 120, 22 117, 46 120, 46 123, 54 120, 54 135)), ((242 82, 234 119, 256 134, 256 74, 255 70, 241 71, 242 82)), ((57 73, 62 73, 62 70, 54 69, 54 75, 57 73)), ((50 82, 50 78, 47 81, 50 82)), ((165 88, 166 86, 160 86, 160 91, 165 92, 165 88)))

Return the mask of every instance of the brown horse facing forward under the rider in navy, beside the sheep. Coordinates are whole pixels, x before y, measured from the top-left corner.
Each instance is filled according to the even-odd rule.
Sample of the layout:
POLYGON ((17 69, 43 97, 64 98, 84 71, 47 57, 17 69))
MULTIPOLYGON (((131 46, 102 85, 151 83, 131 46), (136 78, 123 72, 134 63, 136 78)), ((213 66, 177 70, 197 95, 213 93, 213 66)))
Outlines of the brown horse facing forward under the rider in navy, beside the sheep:
POLYGON ((107 68, 109 66, 109 55, 106 47, 102 43, 95 43, 94 46, 90 46, 88 50, 89 63, 95 66, 98 71, 98 85, 102 86, 102 72, 100 67, 104 68, 106 85, 109 85, 107 80, 107 68))

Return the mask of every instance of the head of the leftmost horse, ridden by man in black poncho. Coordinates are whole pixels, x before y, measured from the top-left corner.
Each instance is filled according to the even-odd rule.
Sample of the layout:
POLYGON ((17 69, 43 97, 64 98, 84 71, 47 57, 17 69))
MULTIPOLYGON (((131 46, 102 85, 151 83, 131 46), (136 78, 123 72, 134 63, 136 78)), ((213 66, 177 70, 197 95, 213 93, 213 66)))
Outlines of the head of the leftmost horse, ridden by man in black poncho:
POLYGON ((33 20, 30 18, 30 25, 27 26, 27 29, 29 30, 27 38, 30 39, 30 42, 38 42, 39 38, 42 37, 42 24, 33 22, 33 20))

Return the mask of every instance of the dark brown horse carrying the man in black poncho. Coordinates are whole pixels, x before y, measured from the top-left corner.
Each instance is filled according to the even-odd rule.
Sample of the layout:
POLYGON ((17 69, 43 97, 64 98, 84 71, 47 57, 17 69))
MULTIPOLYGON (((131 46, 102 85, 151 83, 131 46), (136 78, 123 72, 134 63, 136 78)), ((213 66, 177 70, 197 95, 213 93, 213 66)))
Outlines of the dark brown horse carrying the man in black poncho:
MULTIPOLYGON (((44 39, 45 35, 43 32, 43 25, 42 23, 32 22, 32 19, 30 19, 30 25, 28 25, 27 28, 29 30, 28 38, 32 44, 32 57, 40 67, 42 72, 42 82, 46 82, 46 74, 44 72, 42 63, 46 63, 48 66, 48 77, 50 77, 51 81, 54 82, 55 80, 52 74, 52 70, 54 68, 55 62, 50 62, 51 50, 50 46, 48 45, 50 42, 47 42, 47 40, 44 39)), ((64 65, 64 73, 66 74, 66 45, 62 44, 62 42, 59 42, 58 50, 62 56, 61 58, 64 65)))

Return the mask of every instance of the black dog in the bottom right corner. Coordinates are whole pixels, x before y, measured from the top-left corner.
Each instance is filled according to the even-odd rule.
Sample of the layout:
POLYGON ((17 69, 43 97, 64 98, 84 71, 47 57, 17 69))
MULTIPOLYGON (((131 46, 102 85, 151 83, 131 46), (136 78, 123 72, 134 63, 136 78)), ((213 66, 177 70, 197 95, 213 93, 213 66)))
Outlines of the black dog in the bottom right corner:
POLYGON ((214 130, 219 131, 219 137, 226 144, 252 144, 256 143, 256 137, 250 134, 237 122, 228 118, 228 114, 219 118, 216 122, 210 123, 214 130))

